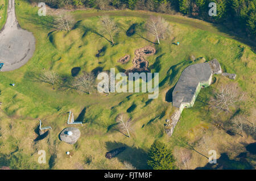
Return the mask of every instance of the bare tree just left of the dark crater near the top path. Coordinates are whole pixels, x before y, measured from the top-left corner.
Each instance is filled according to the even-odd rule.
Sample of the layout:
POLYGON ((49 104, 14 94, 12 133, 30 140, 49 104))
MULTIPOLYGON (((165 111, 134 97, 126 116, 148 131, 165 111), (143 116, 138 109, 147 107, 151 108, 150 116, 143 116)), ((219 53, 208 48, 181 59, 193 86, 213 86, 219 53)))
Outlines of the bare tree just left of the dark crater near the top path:
POLYGON ((114 44, 113 37, 118 32, 117 24, 115 24, 113 19, 110 19, 109 16, 99 16, 101 20, 101 32, 105 35, 108 35, 111 39, 111 43, 114 44))

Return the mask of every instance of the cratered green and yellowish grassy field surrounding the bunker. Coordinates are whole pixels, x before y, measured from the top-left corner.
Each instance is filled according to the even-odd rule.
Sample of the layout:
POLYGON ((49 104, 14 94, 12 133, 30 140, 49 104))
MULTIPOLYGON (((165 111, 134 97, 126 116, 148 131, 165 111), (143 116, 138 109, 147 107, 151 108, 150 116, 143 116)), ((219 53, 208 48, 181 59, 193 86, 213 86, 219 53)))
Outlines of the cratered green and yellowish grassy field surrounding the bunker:
MULTIPOLYGON (((237 82, 247 93, 247 101, 241 110, 251 112, 255 108, 256 56, 247 45, 200 20, 171 15, 163 15, 170 22, 172 31, 159 45, 153 44, 154 38, 144 30, 128 37, 128 28, 133 23, 143 26, 148 17, 148 14, 137 11, 132 11, 133 15, 131 11, 74 11, 71 14, 77 23, 72 31, 53 31, 50 26, 53 21, 51 16, 38 16, 37 7, 32 7, 26 1, 16 2, 19 3, 16 3, 16 15, 20 26, 36 37, 36 50, 31 60, 18 70, 0 74, 0 154, 2 159, 4 155, 19 158, 21 163, 17 169, 122 169, 124 161, 129 161, 137 169, 149 169, 146 153, 156 139, 170 145, 177 162, 180 148, 175 146, 175 140, 179 137, 194 141, 197 137, 211 134, 211 142, 214 143, 211 149, 217 150, 218 157, 221 153, 230 153, 228 145, 241 146, 241 142, 253 142, 251 137, 232 137, 215 129, 209 123, 212 115, 207 105, 213 90, 226 83, 237 82), (114 37, 116 45, 111 45, 98 35, 98 13, 109 14, 117 22, 120 30, 114 37), (172 44, 177 41, 180 42, 179 46, 172 44), (98 68, 123 71, 131 68, 132 63, 129 61, 122 65, 117 62, 119 58, 130 54, 132 60, 134 50, 146 45, 156 48, 156 54, 147 57, 147 60, 151 72, 159 72, 158 99, 149 100, 147 94, 81 94, 33 81, 31 76, 52 70, 61 77, 72 79, 71 69, 75 67, 81 68, 80 74, 98 68), (97 50, 103 47, 106 49, 104 56, 96 57, 97 50), (175 86, 184 68, 197 63, 190 60, 192 54, 196 58, 205 57, 208 61, 217 58, 222 68, 226 72, 236 73, 237 78, 232 81, 217 75, 213 85, 201 90, 195 106, 183 111, 170 138, 164 134, 165 119, 172 112, 172 103, 166 101, 166 92, 175 86), (16 86, 12 87, 10 83, 16 86), (58 137, 68 127, 66 121, 69 110, 75 113, 75 117, 85 112, 84 115, 80 114, 84 124, 82 127, 77 126, 81 137, 75 145, 67 145, 58 137), (122 112, 132 118, 130 138, 109 129, 115 124, 115 117, 122 112), (34 129, 39 119, 42 119, 43 126, 50 125, 52 131, 44 140, 34 142, 34 129), (119 146, 127 146, 127 149, 117 158, 105 158, 106 151, 119 146), (47 164, 36 163, 38 150, 46 150, 47 164), (66 151, 71 151, 72 157, 67 157, 66 151)), ((223 113, 220 119, 228 117, 223 113)), ((200 146, 196 149, 207 154, 200 146)), ((191 154, 191 169, 208 163, 200 155, 194 152, 191 154)), ((236 155, 232 156, 230 158, 233 159, 236 155)), ((5 162, 9 162, 9 159, 6 158, 5 162)))

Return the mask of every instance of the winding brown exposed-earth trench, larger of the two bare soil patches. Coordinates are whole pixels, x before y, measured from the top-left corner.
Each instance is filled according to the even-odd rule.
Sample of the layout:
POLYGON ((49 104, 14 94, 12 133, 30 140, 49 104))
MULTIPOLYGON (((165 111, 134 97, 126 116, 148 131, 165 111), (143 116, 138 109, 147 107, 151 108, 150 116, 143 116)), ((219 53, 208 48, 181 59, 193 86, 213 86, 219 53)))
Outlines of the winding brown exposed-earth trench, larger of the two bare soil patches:
POLYGON ((135 57, 133 59, 133 68, 125 71, 126 74, 134 72, 150 72, 148 69, 148 61, 144 59, 144 56, 151 56, 155 54, 156 50, 154 47, 146 46, 135 50, 135 57))

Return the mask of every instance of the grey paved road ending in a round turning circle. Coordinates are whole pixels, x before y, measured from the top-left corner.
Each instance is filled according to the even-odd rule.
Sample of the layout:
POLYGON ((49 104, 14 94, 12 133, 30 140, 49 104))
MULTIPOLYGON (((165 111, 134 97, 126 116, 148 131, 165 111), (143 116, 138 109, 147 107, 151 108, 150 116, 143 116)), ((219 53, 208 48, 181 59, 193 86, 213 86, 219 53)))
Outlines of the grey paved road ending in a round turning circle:
POLYGON ((35 51, 35 38, 31 32, 19 27, 15 16, 15 0, 9 0, 7 20, 0 31, 0 63, 2 71, 11 71, 27 63, 35 51))

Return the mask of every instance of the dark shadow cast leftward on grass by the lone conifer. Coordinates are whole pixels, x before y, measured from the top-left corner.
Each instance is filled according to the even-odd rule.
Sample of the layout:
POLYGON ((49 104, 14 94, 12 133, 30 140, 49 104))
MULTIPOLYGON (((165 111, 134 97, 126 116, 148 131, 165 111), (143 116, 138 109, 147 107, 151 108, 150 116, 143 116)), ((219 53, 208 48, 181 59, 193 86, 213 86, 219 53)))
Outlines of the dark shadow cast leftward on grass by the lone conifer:
POLYGON ((126 147, 126 149, 122 153, 116 156, 122 163, 127 161, 130 162, 131 165, 136 167, 136 169, 150 169, 147 166, 148 155, 145 150, 137 148, 135 146, 127 146, 126 144, 115 141, 108 141, 105 144, 107 150, 114 150, 123 146, 126 147))

